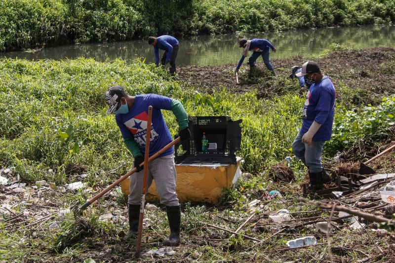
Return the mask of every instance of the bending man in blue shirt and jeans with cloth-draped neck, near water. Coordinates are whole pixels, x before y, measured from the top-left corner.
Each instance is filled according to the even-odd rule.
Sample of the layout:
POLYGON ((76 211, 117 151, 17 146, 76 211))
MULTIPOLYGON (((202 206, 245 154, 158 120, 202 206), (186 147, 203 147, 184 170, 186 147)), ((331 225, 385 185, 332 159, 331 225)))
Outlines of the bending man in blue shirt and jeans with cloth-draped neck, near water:
POLYGON ((272 49, 273 52, 276 52, 276 47, 274 47, 271 42, 266 39, 259 38, 253 38, 251 40, 242 38, 239 41, 239 47, 242 47, 244 49, 235 72, 238 72, 238 70, 240 69, 244 58, 248 55, 248 51, 253 50, 251 56, 248 58, 248 65, 250 65, 250 69, 256 67, 257 58, 259 56, 262 56, 263 62, 265 63, 268 70, 270 70, 273 75, 276 75, 275 70, 273 69, 273 65, 270 63, 269 60, 270 49, 272 49))

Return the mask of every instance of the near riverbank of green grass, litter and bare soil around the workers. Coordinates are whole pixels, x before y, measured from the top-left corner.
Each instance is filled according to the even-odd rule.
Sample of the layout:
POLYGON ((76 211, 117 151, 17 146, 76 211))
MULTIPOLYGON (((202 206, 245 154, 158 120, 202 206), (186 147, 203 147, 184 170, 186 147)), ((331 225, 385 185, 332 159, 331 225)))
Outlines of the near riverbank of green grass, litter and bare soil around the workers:
MULTIPOLYGON (((300 127, 305 95, 299 94, 297 81, 287 75, 293 63, 300 65, 306 59, 313 58, 274 61, 279 72, 276 78, 260 67, 257 73, 263 77, 254 75, 250 81, 255 83, 240 89, 225 81, 234 80, 231 65, 181 68, 173 78, 141 60, 0 59, 0 170, 6 179, 0 185, 0 199, 9 210, 1 210, 0 261, 134 261, 135 241, 123 240, 128 230, 127 206, 120 188, 99 199, 81 218, 73 214, 73 208, 132 165, 114 116, 106 114, 103 98, 109 86, 119 84, 130 94, 157 93, 178 99, 189 115, 228 115, 243 120, 237 155, 244 159, 244 177, 239 185, 224 189, 220 205, 182 204, 181 245, 162 256, 152 250, 162 248, 168 234, 166 212, 159 204, 147 207, 140 262, 393 262, 393 233, 379 235, 381 232, 371 230, 379 226, 369 221, 361 221, 367 229, 355 230, 350 223, 336 220, 328 245, 328 235, 316 230, 315 223, 306 223, 311 218, 314 222, 335 220, 339 215, 295 199, 301 194, 306 167, 295 159, 290 147, 300 127), (199 84, 210 72, 219 80, 213 77, 204 82, 206 86, 199 84), (270 92, 262 95, 260 86, 270 92), (295 181, 272 182, 270 168, 287 156, 295 181), (68 187, 76 182, 85 185, 68 187), (282 196, 272 198, 272 190, 282 196), (280 209, 294 212, 291 221, 269 222, 269 216, 280 209), (236 230, 248 218, 240 233, 262 240, 259 245, 210 226, 236 230), (286 248, 287 241, 308 235, 316 237, 316 246, 286 248)), ((314 59, 322 63, 324 72, 330 71, 340 96, 332 139, 324 148, 327 171, 335 172, 337 166, 350 162, 359 164, 392 145, 395 97, 387 95, 394 91, 394 49, 338 50, 314 59), (368 70, 367 74, 361 75, 362 70, 368 70), (347 79, 347 84, 341 84, 347 79), (369 83, 382 87, 376 89, 374 99, 359 90, 359 85, 366 88, 369 83), (374 106, 366 106, 370 100, 374 106), (344 152, 346 163, 335 161, 337 151, 344 152)), ((249 81, 247 74, 241 72, 242 83, 249 81)), ((176 135, 173 114, 163 111, 163 116, 171 135, 176 135)), ((377 172, 394 172, 394 153, 369 166, 377 172)), ((372 213, 389 217, 391 212, 376 207, 379 201, 376 191, 342 200, 348 206, 372 208, 372 213)))

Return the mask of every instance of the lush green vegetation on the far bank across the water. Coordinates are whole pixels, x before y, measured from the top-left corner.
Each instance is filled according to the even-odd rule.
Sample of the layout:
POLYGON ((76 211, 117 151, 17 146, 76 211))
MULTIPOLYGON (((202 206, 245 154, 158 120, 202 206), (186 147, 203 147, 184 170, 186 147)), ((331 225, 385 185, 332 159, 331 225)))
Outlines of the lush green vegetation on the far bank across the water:
POLYGON ((391 0, 0 2, 0 51, 170 34, 262 33, 390 24, 391 0))

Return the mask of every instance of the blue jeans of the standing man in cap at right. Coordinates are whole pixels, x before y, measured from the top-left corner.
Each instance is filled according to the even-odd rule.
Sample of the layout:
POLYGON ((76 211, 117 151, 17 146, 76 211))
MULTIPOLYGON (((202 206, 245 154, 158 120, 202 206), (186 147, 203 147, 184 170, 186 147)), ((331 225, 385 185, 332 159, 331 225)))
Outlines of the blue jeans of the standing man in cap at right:
POLYGON ((292 152, 309 168, 311 173, 322 170, 321 153, 325 141, 312 141, 311 145, 302 143, 303 135, 298 133, 292 143, 292 152))

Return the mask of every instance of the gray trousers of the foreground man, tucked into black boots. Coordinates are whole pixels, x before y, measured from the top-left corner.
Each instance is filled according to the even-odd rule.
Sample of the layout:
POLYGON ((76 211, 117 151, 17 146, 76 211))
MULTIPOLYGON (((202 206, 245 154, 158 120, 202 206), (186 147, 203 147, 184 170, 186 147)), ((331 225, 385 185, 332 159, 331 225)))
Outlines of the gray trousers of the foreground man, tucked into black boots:
MULTIPOLYGON (((133 162, 133 167, 135 163, 133 162)), ((155 186, 160 198, 160 203, 166 206, 179 205, 176 193, 176 168, 173 154, 156 158, 148 163, 147 192, 155 180, 155 186)), ((141 189, 143 186, 143 170, 130 176, 130 194, 128 203, 141 204, 141 189)))

